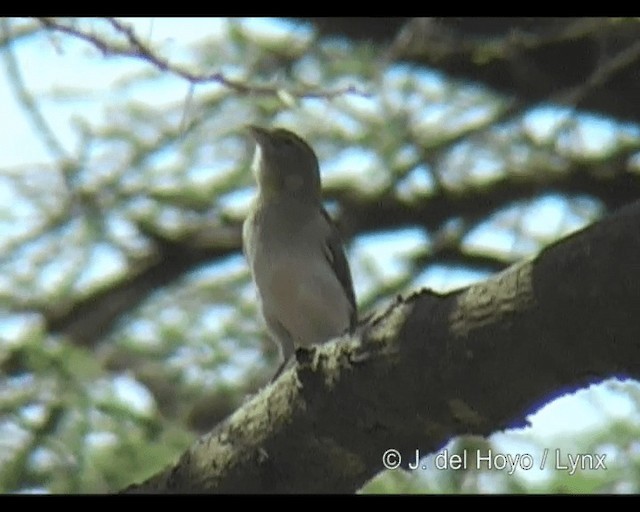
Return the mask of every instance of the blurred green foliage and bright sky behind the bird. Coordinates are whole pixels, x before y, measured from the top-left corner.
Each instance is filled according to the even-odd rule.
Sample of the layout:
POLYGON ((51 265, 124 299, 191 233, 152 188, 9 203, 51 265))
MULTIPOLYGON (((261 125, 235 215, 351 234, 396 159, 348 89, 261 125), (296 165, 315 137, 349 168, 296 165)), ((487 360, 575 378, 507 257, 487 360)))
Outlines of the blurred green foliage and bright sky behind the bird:
MULTIPOLYGON (((2 20, 0 491, 140 481, 268 381, 240 250, 248 123, 316 150, 362 312, 481 280, 639 196, 638 119, 452 79, 398 56, 400 37, 328 24, 2 20)), ((639 397, 608 381, 545 408, 555 427, 443 447, 604 450, 607 471, 441 471, 431 454, 362 492, 638 492, 639 397)))

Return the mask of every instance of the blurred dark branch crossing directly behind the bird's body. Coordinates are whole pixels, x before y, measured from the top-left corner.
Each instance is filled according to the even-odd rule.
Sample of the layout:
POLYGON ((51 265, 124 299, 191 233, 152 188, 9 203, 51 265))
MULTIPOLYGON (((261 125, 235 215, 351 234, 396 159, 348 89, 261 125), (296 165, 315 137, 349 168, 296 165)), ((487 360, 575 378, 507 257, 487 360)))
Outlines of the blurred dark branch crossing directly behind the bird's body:
MULTIPOLYGON (((333 190, 327 197, 337 199, 343 209, 340 226, 347 239, 357 234, 402 227, 421 226, 428 232, 437 233, 452 216, 464 219, 469 228, 476 226, 505 204, 518 200, 529 200, 545 192, 567 195, 589 195, 599 198, 607 211, 614 210, 640 197, 640 180, 625 172, 629 153, 622 152, 618 158, 602 162, 585 162, 575 165, 566 173, 556 176, 556 182, 531 180, 519 177, 490 184, 481 189, 469 189, 464 193, 426 198, 415 204, 403 204, 396 197, 361 198, 357 192, 333 190), (617 167, 617 166, 620 167, 617 167), (603 194, 606 189, 606 195, 603 194)), ((49 328, 56 333, 69 336, 83 345, 99 342, 119 318, 135 308, 153 290, 174 282, 197 266, 217 258, 240 251, 240 226, 229 226, 235 230, 235 242, 225 235, 225 243, 216 240, 209 229, 203 244, 194 244, 197 237, 171 241, 141 228, 156 243, 157 253, 147 267, 134 277, 114 283, 102 292, 76 303, 64 313, 45 313, 49 328)), ((444 255, 455 256, 459 264, 484 270, 504 268, 506 262, 499 257, 451 253, 451 248, 440 247, 426 256, 423 263, 443 261, 444 255), (433 261, 432 261, 433 258, 433 261)))

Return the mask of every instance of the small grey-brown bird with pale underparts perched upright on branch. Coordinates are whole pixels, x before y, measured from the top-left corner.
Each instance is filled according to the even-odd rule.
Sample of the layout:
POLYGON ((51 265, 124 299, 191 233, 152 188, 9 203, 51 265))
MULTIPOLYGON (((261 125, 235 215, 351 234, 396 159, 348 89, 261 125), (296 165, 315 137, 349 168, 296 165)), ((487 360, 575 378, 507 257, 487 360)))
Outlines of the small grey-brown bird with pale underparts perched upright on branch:
POLYGON ((322 204, 318 158, 284 128, 249 125, 258 193, 242 227, 243 251, 270 337, 274 381, 297 347, 353 332, 356 297, 338 229, 322 204))

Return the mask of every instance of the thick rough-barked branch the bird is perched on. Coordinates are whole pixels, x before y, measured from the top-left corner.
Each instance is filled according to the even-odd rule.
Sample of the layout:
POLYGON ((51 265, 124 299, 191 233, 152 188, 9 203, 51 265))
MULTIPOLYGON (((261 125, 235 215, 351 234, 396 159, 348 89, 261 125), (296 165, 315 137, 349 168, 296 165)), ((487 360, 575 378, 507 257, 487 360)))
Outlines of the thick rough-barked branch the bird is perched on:
POLYGON ((353 492, 460 434, 526 424, 607 377, 640 378, 640 202, 491 279, 398 300, 299 364, 129 492, 353 492))

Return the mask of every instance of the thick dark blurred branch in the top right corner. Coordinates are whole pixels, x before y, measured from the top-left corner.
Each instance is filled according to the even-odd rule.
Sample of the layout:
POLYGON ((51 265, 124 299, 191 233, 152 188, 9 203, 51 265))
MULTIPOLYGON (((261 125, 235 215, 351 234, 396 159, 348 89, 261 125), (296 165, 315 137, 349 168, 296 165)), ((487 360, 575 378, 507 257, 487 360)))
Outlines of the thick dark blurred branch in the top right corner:
POLYGON ((297 19, 312 22, 321 36, 389 45, 392 59, 439 69, 531 105, 560 103, 640 121, 637 19, 297 19))

